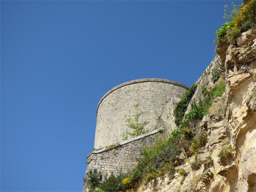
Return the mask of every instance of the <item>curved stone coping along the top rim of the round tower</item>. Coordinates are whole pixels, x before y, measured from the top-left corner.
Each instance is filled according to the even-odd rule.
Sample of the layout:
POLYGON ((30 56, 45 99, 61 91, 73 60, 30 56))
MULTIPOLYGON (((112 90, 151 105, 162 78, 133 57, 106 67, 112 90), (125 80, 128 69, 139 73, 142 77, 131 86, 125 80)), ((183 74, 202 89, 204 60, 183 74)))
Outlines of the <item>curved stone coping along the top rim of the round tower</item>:
POLYGON ((179 83, 179 82, 176 82, 176 81, 172 81, 172 80, 168 80, 168 79, 158 79, 158 78, 145 78, 145 79, 136 79, 136 80, 132 80, 132 81, 128 81, 128 82, 125 82, 123 84, 120 84, 120 85, 117 85, 116 87, 114 87, 113 89, 109 90, 101 99, 100 99, 100 102, 98 104, 98 107, 97 107, 97 113, 98 113, 98 109, 99 109, 99 106, 100 106, 100 103, 102 102, 102 100, 105 99, 105 97, 107 97, 111 92, 115 91, 116 89, 119 89, 121 87, 124 87, 126 85, 130 85, 130 84, 136 84, 136 83, 143 83, 143 82, 163 82, 163 83, 169 83, 169 84, 175 84, 175 85, 179 85, 181 87, 184 87, 184 88, 187 88, 189 89, 189 86, 185 85, 185 84, 182 84, 182 83, 179 83))

